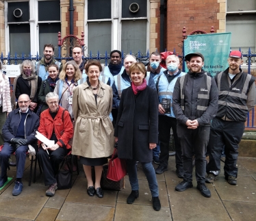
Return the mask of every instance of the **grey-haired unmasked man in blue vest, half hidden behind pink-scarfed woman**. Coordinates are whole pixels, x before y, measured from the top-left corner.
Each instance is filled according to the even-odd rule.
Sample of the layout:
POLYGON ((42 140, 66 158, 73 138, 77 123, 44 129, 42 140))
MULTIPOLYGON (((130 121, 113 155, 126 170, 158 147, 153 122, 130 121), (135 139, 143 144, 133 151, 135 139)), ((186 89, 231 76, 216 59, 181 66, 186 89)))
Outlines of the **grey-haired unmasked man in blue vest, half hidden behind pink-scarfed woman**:
MULTIPOLYGON (((122 91, 125 90, 126 88, 129 88, 131 86, 131 80, 129 77, 129 67, 131 64, 136 62, 136 57, 133 55, 125 55, 125 60, 124 60, 124 67, 125 70, 121 75, 116 75, 114 76, 114 83, 112 85, 112 90, 113 90, 113 107, 118 108, 119 103, 120 103, 120 97, 122 94, 122 91)), ((146 84, 153 88, 155 88, 155 82, 152 79, 151 76, 146 76, 146 84)))

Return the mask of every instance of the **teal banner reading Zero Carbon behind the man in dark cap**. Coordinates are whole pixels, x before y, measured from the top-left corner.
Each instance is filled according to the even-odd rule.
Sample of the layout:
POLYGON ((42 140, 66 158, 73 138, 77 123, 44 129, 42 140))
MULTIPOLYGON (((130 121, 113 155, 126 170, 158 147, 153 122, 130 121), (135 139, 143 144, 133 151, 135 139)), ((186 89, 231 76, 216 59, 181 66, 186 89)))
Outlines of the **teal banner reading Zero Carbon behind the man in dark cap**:
MULTIPOLYGON (((203 70, 215 76, 229 67, 231 33, 199 34, 188 36, 184 42, 184 54, 199 52, 205 57, 203 70)), ((185 65, 185 72, 188 68, 185 65)))

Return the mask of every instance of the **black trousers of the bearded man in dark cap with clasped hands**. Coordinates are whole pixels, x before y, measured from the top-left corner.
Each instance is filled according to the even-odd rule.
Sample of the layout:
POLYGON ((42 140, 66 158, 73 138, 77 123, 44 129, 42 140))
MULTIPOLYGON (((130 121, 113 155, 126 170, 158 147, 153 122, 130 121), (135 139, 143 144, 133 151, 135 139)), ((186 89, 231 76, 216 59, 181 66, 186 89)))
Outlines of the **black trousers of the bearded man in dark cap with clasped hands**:
POLYGON ((197 183, 205 183, 205 153, 209 141, 209 126, 188 129, 186 125, 177 125, 177 134, 181 142, 184 180, 192 181, 192 151, 195 154, 197 183))

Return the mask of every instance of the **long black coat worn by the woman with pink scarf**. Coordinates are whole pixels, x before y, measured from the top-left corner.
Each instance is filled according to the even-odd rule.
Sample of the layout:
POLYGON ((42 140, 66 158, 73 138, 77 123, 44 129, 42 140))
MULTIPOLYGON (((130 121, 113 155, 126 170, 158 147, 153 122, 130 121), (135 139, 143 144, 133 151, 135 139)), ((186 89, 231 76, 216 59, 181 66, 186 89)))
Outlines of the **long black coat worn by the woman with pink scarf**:
POLYGON ((158 140, 158 96, 149 86, 135 96, 131 87, 123 90, 114 136, 118 137, 118 157, 150 162, 149 143, 158 140))

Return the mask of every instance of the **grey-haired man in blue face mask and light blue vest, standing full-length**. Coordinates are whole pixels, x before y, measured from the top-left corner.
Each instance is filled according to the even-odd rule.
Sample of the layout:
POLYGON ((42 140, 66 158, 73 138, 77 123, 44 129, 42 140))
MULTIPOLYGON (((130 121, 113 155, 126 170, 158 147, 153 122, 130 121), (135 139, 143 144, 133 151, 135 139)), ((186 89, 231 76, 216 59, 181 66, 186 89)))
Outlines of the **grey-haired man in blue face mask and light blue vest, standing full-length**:
POLYGON ((159 98, 158 131, 161 153, 159 166, 155 169, 155 172, 162 174, 164 171, 168 170, 170 129, 172 128, 176 150, 176 173, 179 178, 183 178, 181 144, 177 136, 177 119, 172 110, 172 93, 178 77, 185 75, 185 73, 181 72, 181 69, 179 69, 179 57, 177 55, 169 55, 166 57, 166 67, 168 70, 165 70, 164 74, 160 75, 157 79, 159 98))

